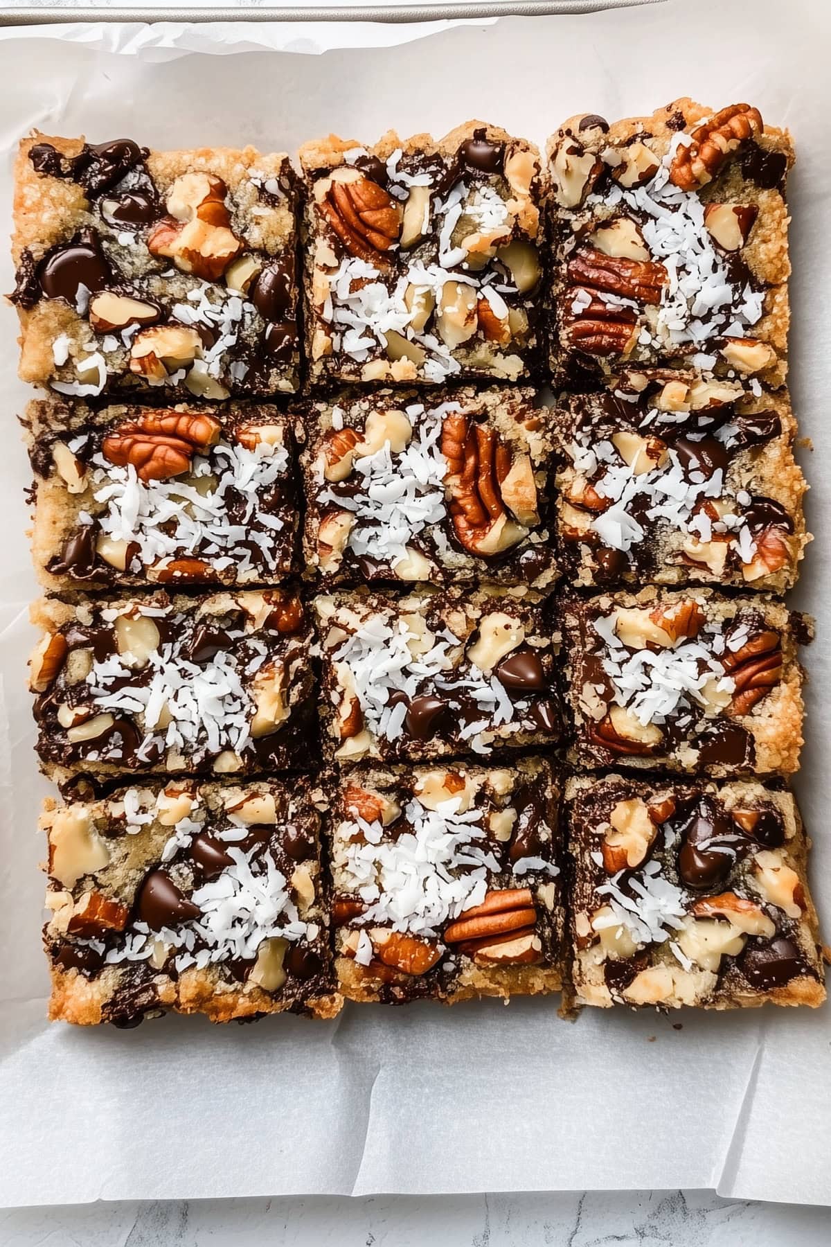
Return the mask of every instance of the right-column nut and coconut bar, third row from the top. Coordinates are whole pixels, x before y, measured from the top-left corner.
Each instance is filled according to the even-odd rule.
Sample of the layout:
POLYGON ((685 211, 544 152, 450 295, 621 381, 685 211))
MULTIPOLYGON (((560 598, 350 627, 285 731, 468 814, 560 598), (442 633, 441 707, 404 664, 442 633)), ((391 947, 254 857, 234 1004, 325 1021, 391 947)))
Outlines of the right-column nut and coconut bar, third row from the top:
POLYGON ((563 605, 566 686, 586 767, 789 774, 802 746, 802 616, 709 589, 563 605))

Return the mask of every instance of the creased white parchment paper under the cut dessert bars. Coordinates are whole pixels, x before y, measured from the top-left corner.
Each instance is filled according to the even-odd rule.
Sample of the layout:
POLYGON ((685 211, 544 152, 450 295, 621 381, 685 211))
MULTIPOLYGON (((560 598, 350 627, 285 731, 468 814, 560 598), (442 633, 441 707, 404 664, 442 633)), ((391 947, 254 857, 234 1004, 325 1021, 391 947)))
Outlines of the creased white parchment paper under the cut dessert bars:
MULTIPOLYGON (((247 27, 244 46, 260 34, 247 27)), ((796 600, 827 616, 830 35, 827 6, 810 0, 669 0, 313 57, 214 56, 216 30, 201 32, 203 54, 154 64, 95 41, 6 37, 0 211, 7 221, 11 148, 32 125, 157 146, 292 150, 329 130, 370 140, 387 126, 442 133, 482 116, 543 141, 578 110, 625 116, 683 94, 718 107, 749 100, 789 125, 799 147, 791 384, 815 446, 809 518, 820 540, 796 600)), ((106 37, 111 47, 131 42, 130 31, 106 37)), ((127 1033, 47 1026, 34 833, 46 786, 24 688, 35 582, 24 537, 29 469, 15 428, 27 394, 14 380, 11 311, 0 322, 0 1202, 604 1187, 831 1202, 829 1009, 668 1019, 589 1010, 568 1025, 556 1000, 517 1000, 353 1006, 334 1025, 277 1018, 213 1029, 171 1018, 127 1033)), ((807 655, 809 746, 797 787, 815 837, 814 888, 831 922, 827 636, 824 626, 807 655)))

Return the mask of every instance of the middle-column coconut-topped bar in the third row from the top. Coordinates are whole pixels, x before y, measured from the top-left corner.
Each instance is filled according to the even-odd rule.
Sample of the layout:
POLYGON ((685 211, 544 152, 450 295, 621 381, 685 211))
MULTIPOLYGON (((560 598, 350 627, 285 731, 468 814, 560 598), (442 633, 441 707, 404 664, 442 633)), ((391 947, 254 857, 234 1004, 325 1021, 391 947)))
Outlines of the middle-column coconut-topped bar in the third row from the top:
POLYGON ((533 590, 315 599, 324 748, 345 764, 487 754, 561 736, 549 610, 533 590))

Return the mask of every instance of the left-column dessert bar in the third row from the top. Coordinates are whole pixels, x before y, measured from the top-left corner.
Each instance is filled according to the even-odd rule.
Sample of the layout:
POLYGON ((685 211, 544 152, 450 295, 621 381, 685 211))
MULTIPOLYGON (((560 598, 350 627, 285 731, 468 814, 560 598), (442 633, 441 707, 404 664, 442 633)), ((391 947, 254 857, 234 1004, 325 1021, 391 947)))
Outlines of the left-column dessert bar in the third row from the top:
POLYGON ((308 763, 311 630, 292 590, 32 607, 37 753, 59 783, 308 763))

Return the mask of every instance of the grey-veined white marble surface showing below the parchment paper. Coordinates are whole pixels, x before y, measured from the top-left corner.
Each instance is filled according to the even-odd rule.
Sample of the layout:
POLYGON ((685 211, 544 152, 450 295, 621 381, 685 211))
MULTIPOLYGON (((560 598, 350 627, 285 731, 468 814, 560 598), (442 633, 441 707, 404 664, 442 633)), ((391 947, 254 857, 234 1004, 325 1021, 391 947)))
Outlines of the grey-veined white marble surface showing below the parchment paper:
MULTIPOLYGON (((5 11, 50 0, 11 0, 5 11)), ((65 7, 123 0, 51 0, 65 7)), ((164 0, 143 0, 150 6, 164 0)), ((184 7, 196 0, 178 0, 184 7)), ((263 0, 223 0, 226 5, 263 0)), ((288 2, 288 0, 285 0, 288 2)), ((314 0, 292 0, 295 6, 314 0)), ((343 0, 344 6, 370 0, 343 0)), ((385 0, 404 2, 404 0, 385 0)), ((831 1202, 831 1176, 829 1178, 831 1202)), ((829 1247, 831 1210, 713 1191, 118 1202, 0 1210, 2 1247, 829 1247)))

